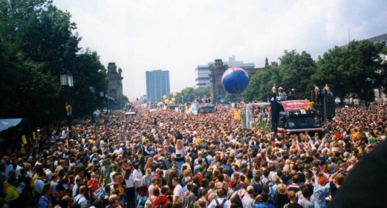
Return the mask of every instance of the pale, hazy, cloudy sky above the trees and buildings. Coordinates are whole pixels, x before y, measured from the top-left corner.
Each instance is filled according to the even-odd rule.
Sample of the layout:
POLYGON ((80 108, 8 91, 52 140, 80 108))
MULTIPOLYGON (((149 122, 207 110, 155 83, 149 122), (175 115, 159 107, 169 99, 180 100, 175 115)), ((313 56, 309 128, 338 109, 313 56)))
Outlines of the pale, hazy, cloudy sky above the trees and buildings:
POLYGON ((146 94, 145 71, 169 70, 171 92, 195 85, 215 59, 277 61, 284 50, 317 59, 335 45, 387 33, 387 0, 54 0, 71 13, 80 47, 123 69, 130 99, 146 94), (348 37, 348 30, 350 36, 348 37))

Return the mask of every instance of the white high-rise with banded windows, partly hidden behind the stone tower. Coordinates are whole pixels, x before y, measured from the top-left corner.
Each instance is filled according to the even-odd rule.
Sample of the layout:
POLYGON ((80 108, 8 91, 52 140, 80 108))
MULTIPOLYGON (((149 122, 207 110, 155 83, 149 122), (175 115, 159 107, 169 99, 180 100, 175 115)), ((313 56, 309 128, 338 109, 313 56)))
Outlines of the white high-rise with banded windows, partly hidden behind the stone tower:
MULTIPOLYGON (((210 86, 210 66, 214 62, 209 62, 207 65, 198 66, 195 69, 195 87, 206 87, 210 86)), ((235 56, 229 57, 229 61, 223 62, 228 67, 241 67, 246 70, 249 74, 255 73, 255 64, 254 63, 243 63, 243 61, 236 61, 235 56)))

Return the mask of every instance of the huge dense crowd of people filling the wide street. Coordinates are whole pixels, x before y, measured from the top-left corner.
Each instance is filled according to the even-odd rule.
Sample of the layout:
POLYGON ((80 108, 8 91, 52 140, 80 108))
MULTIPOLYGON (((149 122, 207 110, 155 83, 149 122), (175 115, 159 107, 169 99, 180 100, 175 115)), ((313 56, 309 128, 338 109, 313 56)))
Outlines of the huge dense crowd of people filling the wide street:
POLYGON ((325 207, 387 131, 382 106, 337 109, 314 135, 242 128, 217 109, 41 128, 39 146, 1 156, 0 207, 325 207))

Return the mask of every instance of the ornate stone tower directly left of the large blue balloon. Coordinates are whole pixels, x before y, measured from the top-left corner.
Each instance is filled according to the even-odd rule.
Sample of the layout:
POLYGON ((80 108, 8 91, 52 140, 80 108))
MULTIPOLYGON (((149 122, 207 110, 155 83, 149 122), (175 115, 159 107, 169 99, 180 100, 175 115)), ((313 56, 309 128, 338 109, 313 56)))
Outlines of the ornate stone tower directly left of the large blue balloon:
POLYGON ((226 95, 226 91, 222 85, 222 75, 227 68, 227 64, 224 64, 222 59, 215 59, 215 62, 210 65, 211 100, 214 104, 219 103, 226 95))

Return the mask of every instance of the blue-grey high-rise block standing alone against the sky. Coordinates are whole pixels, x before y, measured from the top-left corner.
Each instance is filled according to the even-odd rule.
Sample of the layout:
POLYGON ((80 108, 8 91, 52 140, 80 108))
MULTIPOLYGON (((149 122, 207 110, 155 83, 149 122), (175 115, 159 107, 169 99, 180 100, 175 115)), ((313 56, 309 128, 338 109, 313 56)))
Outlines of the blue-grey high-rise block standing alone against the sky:
POLYGON ((169 95, 169 71, 146 71, 146 96, 151 102, 160 100, 162 96, 169 95))

